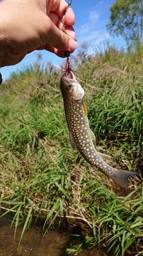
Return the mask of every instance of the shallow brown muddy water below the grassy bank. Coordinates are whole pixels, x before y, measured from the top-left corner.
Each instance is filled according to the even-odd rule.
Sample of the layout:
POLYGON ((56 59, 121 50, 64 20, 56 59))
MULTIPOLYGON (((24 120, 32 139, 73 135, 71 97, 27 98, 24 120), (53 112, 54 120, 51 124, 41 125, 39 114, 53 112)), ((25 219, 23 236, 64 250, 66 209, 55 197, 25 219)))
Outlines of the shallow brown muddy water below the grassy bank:
MULTIPOLYGON (((2 212, 1 212, 2 215, 2 212)), ((11 216, 0 218, 0 256, 68 256, 66 248, 72 248, 72 244, 79 244, 79 238, 71 236, 69 231, 50 229, 43 238, 43 223, 32 224, 24 232, 22 241, 18 246, 22 226, 18 226, 14 240, 14 224, 10 227, 11 216), (77 241, 75 240, 77 239, 77 241)), ((77 255, 77 254, 70 254, 77 255)), ((79 256, 106 256, 97 248, 84 250, 78 253, 79 256)))

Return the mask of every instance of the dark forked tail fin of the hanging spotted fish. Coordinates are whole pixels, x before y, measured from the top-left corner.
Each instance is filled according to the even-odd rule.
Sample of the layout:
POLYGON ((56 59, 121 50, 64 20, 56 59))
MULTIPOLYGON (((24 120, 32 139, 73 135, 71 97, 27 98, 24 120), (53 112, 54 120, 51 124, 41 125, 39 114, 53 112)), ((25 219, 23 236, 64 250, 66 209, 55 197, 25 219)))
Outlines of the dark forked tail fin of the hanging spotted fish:
POLYGON ((110 176, 119 186, 128 188, 128 177, 138 175, 137 173, 129 172, 128 170, 118 170, 115 175, 110 176))

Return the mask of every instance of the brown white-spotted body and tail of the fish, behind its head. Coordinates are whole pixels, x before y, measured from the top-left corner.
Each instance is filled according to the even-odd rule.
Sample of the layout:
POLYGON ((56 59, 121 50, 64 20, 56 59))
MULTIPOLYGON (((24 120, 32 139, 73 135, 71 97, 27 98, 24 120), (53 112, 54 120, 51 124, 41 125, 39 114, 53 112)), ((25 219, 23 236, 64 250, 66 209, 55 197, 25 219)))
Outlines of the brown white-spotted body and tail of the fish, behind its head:
POLYGON ((64 106, 69 131, 82 157, 90 163, 95 170, 99 170, 106 176, 109 176, 121 187, 127 188, 128 177, 137 174, 115 169, 105 163, 98 155, 93 144, 89 120, 88 117, 85 116, 83 105, 74 101, 64 101, 64 106))

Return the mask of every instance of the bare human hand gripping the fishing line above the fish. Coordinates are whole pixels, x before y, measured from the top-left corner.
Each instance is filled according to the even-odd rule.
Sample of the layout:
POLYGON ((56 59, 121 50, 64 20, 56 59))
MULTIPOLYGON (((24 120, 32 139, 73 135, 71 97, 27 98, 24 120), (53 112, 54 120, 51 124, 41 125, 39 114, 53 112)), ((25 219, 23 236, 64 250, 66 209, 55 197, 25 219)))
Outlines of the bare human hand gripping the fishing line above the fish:
POLYGON ((47 50, 59 57, 72 53, 76 37, 71 8, 65 15, 63 32, 61 18, 67 7, 64 0, 4 0, 0 3, 0 68, 15 65, 27 53, 47 50))

